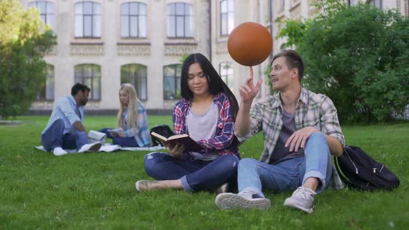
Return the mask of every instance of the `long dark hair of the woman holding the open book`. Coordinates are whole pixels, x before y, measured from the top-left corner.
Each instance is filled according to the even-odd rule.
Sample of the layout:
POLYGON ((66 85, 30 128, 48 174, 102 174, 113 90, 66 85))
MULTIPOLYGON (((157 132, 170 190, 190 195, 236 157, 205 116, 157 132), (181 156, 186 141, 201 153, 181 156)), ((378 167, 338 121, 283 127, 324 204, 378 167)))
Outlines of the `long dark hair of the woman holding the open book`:
MULTIPOLYGON (((233 121, 236 122, 236 116, 238 112, 238 103, 237 99, 232 93, 232 91, 227 87, 226 83, 220 78, 220 75, 217 73, 216 69, 214 69, 213 65, 210 61, 204 57, 201 53, 192 53, 189 55, 186 60, 184 60, 182 65, 182 78, 180 80, 180 89, 182 98, 186 100, 193 99, 193 92, 189 89, 188 85, 188 78, 189 78, 189 67, 191 64, 198 63, 202 68, 203 73, 208 76, 207 78, 207 85, 209 85, 209 91, 211 95, 219 94, 223 92, 227 99, 229 99, 230 106, 232 108, 233 113, 233 121)), ((238 145, 238 140, 236 136, 234 136, 234 145, 238 145)))

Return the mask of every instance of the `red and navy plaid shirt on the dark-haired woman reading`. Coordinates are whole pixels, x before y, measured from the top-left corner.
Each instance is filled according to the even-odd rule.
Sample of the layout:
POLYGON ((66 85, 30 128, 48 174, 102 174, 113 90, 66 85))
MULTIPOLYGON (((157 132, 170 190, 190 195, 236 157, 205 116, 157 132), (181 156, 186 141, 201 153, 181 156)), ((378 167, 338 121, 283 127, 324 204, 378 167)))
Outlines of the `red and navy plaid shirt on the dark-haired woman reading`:
MULTIPOLYGON (((197 141, 203 148, 202 154, 207 152, 217 152, 219 155, 236 155, 240 159, 237 146, 233 145, 234 121, 232 107, 225 94, 217 94, 213 98, 213 103, 218 107, 219 116, 216 127, 216 134, 211 139, 197 141)), ((180 100, 173 109, 174 132, 177 134, 189 134, 186 124, 186 116, 190 107, 189 100, 180 100)), ((193 159, 193 155, 185 153, 182 159, 193 159)))

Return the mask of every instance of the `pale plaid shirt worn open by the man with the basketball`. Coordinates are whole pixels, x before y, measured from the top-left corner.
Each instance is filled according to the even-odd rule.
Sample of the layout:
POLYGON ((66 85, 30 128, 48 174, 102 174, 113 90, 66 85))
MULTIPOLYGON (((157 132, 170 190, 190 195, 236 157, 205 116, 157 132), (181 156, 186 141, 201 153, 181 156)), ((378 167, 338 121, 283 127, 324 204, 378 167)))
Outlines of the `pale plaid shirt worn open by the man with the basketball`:
MULTIPOLYGON (((263 131, 264 150, 263 154, 261 154, 260 161, 268 163, 281 132, 283 125, 282 116, 283 107, 279 93, 268 96, 266 100, 256 103, 256 105, 252 107, 250 111, 250 133, 243 136, 236 134, 238 141, 243 142, 245 139, 263 131)), ((327 96, 315 94, 302 88, 301 94, 299 95, 298 106, 295 109, 294 119, 296 130, 312 126, 324 134, 335 137, 342 145, 345 145, 336 107, 327 96)), ((335 186, 336 188, 340 188, 342 187, 342 182, 340 185, 339 177, 339 180, 334 178, 337 176, 338 173, 336 173, 336 170, 335 172, 333 170, 335 186)))

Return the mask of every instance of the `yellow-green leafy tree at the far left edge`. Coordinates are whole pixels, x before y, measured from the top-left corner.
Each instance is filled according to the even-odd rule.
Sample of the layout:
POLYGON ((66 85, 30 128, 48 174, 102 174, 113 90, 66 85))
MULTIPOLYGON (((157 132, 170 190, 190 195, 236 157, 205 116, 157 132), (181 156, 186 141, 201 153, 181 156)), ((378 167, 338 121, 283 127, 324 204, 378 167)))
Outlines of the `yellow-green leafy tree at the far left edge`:
POLYGON ((46 80, 43 57, 56 44, 38 10, 0 1, 0 115, 25 112, 46 80))

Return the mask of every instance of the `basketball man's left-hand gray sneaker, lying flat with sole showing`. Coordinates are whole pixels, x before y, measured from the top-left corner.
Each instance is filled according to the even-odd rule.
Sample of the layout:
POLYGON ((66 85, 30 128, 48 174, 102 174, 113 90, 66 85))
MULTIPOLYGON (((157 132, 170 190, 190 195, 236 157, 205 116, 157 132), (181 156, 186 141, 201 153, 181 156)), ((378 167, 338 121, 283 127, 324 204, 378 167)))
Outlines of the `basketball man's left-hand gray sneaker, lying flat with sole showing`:
POLYGON ((267 198, 253 198, 252 193, 220 193, 216 196, 216 206, 219 209, 270 209, 270 200, 267 198))

